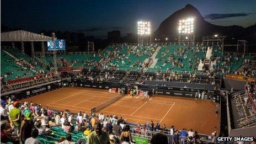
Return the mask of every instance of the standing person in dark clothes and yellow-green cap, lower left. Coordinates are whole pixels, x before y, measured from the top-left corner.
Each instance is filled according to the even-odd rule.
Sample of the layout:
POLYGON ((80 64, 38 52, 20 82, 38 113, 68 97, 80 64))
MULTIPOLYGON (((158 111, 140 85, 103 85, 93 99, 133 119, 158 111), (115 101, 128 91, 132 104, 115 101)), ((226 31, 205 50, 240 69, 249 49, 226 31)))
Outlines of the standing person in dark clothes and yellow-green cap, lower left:
POLYGON ((32 120, 32 114, 26 113, 25 118, 20 126, 20 141, 25 142, 27 138, 31 137, 32 129, 34 128, 34 122, 32 120))

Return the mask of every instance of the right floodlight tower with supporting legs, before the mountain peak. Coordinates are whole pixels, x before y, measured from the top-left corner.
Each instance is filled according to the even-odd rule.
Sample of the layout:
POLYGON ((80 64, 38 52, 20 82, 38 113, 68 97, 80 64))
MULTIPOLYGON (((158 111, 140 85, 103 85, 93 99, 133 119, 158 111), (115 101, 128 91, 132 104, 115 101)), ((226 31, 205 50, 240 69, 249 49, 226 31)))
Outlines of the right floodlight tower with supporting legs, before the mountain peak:
POLYGON ((195 18, 180 19, 178 23, 179 33, 179 44, 194 44, 195 42, 195 29, 194 29, 195 18))

